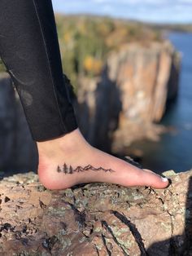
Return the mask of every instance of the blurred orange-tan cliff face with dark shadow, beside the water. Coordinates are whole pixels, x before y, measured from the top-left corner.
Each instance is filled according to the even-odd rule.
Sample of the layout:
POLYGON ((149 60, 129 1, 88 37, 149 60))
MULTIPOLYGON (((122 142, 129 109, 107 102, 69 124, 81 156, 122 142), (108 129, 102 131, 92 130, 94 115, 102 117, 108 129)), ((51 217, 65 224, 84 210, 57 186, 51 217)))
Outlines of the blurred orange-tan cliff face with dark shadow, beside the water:
POLYGON ((111 53, 102 76, 81 79, 78 87, 77 113, 85 137, 98 148, 109 149, 112 142, 120 149, 154 136, 151 124, 177 96, 179 66, 169 42, 132 43, 111 53))

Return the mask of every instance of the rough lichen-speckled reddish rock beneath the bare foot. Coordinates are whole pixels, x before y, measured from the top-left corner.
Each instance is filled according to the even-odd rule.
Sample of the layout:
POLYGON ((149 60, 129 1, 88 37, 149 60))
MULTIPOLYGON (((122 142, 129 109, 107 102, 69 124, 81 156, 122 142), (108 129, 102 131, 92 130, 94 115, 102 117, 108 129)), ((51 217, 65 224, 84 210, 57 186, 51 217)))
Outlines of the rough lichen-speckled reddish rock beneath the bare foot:
POLYGON ((192 255, 192 170, 162 190, 106 183, 49 191, 33 173, 0 183, 1 255, 192 255))

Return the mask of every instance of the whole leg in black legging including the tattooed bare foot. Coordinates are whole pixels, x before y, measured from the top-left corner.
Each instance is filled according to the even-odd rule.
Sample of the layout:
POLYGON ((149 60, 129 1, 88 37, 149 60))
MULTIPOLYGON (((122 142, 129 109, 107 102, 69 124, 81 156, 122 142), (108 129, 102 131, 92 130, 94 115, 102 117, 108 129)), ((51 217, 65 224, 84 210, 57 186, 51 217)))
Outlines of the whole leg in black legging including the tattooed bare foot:
POLYGON ((1 0, 0 55, 37 141, 38 174, 46 188, 89 182, 168 186, 168 180, 101 152, 82 137, 63 80, 50 0, 1 0))

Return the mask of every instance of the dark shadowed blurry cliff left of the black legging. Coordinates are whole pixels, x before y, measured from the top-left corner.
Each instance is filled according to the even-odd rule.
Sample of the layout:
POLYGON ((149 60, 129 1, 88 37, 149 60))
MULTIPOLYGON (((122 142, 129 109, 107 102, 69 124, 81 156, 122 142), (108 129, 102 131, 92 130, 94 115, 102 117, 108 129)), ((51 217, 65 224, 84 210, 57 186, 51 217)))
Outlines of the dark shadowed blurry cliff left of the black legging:
POLYGON ((7 73, 0 73, 0 142, 0 170, 36 170, 37 148, 7 73))

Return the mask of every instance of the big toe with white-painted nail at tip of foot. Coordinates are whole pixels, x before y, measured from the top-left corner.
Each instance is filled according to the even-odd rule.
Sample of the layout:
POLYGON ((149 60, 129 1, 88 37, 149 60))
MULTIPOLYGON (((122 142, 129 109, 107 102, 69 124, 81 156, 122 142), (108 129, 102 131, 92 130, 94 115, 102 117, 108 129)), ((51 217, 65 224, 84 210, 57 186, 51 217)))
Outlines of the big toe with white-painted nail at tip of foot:
POLYGON ((159 174, 155 174, 153 171, 148 169, 144 170, 144 176, 146 180, 146 186, 150 186, 153 188, 167 188, 169 185, 168 178, 164 178, 159 174))

